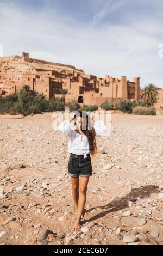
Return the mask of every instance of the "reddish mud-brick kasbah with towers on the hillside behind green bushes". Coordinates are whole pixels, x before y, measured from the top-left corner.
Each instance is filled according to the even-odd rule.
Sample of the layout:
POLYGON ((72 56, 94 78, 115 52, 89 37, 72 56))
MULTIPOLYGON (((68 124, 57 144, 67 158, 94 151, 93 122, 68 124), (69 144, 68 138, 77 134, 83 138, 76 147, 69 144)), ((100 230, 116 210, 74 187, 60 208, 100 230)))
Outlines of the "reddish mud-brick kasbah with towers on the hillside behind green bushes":
MULTIPOLYGON (((45 94, 48 100, 54 96, 62 97, 60 89, 67 89, 65 102, 76 100, 85 105, 101 105, 104 100, 116 103, 120 97, 124 100, 140 97, 140 77, 133 81, 127 80, 126 76, 99 78, 72 65, 30 58, 26 52, 22 56, 0 57, 0 95, 15 94, 24 84, 45 94)), ((163 106, 161 88, 156 103, 156 107, 160 106, 163 106)))

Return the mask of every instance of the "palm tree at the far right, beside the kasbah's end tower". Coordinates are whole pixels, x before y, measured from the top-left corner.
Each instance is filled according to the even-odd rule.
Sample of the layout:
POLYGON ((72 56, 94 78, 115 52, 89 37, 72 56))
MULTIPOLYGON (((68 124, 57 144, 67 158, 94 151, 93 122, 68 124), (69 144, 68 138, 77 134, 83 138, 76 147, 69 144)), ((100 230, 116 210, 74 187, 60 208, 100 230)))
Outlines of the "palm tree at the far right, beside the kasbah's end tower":
POLYGON ((158 87, 156 87, 153 83, 148 83, 148 86, 146 86, 142 90, 142 94, 140 96, 140 99, 143 99, 146 101, 146 106, 153 105, 154 102, 157 100, 158 96, 158 87))

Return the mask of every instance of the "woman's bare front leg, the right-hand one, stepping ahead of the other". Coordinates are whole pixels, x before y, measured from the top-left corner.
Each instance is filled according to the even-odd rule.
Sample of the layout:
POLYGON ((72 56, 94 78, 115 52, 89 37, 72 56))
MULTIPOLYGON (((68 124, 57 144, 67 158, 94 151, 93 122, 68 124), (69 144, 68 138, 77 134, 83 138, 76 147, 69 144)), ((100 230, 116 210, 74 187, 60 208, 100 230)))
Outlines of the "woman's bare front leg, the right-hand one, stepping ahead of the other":
POLYGON ((80 177, 79 180, 79 200, 78 200, 78 215, 77 220, 74 223, 73 230, 78 230, 80 228, 80 220, 84 211, 84 206, 86 203, 86 191, 87 184, 90 177, 80 177))

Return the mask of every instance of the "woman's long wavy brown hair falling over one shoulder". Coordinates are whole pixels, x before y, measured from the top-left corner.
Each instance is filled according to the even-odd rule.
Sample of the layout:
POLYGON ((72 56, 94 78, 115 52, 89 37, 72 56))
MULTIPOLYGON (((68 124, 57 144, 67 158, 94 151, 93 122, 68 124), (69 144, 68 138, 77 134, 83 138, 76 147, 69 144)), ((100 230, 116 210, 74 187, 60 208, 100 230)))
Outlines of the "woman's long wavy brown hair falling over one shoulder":
POLYGON ((94 127, 92 126, 91 120, 90 120, 89 116, 86 114, 86 111, 78 111, 74 114, 74 117, 71 119, 71 121, 75 119, 74 125, 76 125, 77 117, 83 118, 81 130, 88 139, 89 147, 90 147, 90 154, 92 156, 95 156, 95 154, 97 152, 96 132, 95 132, 94 127), (83 128, 84 128, 84 130, 83 130, 83 128))

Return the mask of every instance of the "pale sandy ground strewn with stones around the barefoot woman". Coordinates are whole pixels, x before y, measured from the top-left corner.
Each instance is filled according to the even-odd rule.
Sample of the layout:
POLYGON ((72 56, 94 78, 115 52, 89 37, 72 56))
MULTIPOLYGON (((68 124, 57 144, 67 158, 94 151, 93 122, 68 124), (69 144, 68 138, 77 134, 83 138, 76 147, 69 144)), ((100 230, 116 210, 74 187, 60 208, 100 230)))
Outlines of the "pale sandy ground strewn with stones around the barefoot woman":
POLYGON ((111 114, 111 134, 97 137, 91 157, 79 231, 68 137, 52 129, 52 113, 0 115, 0 123, 1 245, 163 245, 163 116, 111 114), (40 238, 45 228, 51 234, 40 238))

